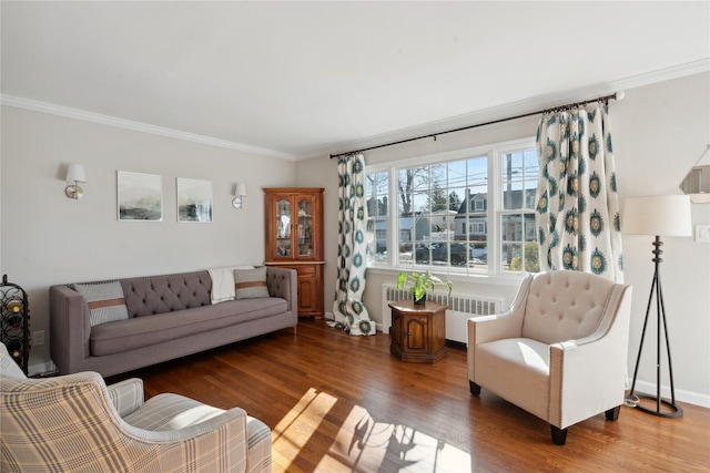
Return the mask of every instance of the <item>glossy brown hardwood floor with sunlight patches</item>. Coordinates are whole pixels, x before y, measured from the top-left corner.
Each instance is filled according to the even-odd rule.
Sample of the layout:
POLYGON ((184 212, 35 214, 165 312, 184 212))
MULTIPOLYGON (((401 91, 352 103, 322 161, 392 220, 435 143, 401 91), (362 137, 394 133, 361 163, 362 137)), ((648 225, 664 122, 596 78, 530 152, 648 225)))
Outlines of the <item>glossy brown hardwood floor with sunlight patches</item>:
MULTIPOLYGON (((389 337, 349 337, 302 320, 241 343, 139 370, 148 397, 175 392, 241 407, 272 429, 274 472, 710 471, 710 410, 681 419, 623 407, 569 428, 549 425, 484 389, 471 397, 466 352, 403 363, 389 337)), ((120 378, 112 378, 113 382, 120 378)))

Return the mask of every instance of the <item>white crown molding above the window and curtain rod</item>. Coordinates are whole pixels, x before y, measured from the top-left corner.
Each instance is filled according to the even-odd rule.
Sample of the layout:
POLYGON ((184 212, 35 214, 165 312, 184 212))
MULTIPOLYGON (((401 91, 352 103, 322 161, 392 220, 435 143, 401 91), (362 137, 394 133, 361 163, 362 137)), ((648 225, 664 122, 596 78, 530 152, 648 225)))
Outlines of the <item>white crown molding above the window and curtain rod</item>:
POLYGON ((464 126, 470 126, 478 123, 486 123, 494 120, 501 120, 506 116, 516 116, 525 113, 531 113, 536 110, 550 109, 557 105, 581 102, 612 94, 615 92, 637 89, 645 85, 651 85, 659 82, 666 82, 673 79, 680 79, 688 75, 710 72, 710 58, 692 61, 684 64, 666 68, 643 74, 633 75, 627 79, 612 81, 607 84, 597 84, 577 90, 564 91, 555 94, 540 95, 526 99, 518 102, 511 102, 490 109, 479 110, 476 112, 458 115, 436 122, 429 122, 422 125, 400 128, 395 132, 384 133, 381 135, 368 136, 362 140, 352 141, 339 144, 337 146, 322 148, 307 154, 298 155, 296 158, 311 160, 315 157, 328 156, 331 154, 346 153, 353 150, 362 150, 371 146, 382 145, 384 143, 393 143, 400 140, 407 140, 413 136, 443 133, 447 130, 456 130, 464 126))

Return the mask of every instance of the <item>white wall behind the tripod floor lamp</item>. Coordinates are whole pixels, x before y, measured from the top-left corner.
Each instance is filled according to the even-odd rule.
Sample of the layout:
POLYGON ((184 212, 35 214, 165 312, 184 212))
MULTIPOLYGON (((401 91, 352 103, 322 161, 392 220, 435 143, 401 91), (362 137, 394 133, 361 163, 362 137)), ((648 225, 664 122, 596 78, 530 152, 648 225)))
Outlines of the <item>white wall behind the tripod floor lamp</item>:
MULTIPOLYGON (((629 90, 611 112, 621 198, 679 194, 678 185, 710 144, 710 74, 629 90)), ((710 204, 692 205, 692 224, 710 224, 710 204)), ((623 237, 625 280, 633 286, 630 376, 653 277, 651 240, 623 237)), ((676 397, 710 407, 710 244, 691 237, 662 240, 660 275, 676 397)), ((649 322, 648 330, 637 388, 655 392, 656 323, 649 322)), ((661 385, 668 385, 665 360, 662 367, 661 385)))

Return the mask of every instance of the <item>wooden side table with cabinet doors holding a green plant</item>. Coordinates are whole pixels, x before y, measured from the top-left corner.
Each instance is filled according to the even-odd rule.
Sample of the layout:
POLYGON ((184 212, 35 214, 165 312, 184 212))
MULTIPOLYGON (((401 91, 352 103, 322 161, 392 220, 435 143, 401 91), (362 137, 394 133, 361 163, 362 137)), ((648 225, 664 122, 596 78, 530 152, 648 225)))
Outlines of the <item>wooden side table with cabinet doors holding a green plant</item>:
POLYGON ((446 306, 413 300, 390 302, 389 351, 409 363, 436 363, 446 356, 446 306))

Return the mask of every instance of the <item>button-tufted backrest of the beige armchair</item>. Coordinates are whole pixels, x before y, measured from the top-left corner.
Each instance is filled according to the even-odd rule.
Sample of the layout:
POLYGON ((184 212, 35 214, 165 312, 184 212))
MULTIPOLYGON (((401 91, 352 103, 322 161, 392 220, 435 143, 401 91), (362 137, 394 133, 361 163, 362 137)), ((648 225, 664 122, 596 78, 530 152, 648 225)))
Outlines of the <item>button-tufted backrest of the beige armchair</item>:
POLYGON ((523 337, 545 343, 591 335, 601 321, 615 282, 581 271, 549 271, 530 284, 523 337))

